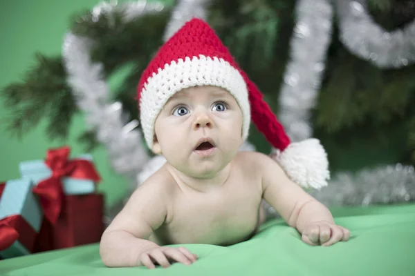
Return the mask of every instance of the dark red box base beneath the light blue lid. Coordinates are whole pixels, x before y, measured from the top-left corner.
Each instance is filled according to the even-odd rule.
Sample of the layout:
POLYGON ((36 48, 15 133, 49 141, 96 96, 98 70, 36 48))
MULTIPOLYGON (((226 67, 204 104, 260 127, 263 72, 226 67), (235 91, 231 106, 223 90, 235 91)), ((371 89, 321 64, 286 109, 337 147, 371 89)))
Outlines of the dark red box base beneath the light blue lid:
POLYGON ((44 219, 35 252, 100 242, 103 209, 102 194, 66 195, 56 223, 52 226, 44 219))

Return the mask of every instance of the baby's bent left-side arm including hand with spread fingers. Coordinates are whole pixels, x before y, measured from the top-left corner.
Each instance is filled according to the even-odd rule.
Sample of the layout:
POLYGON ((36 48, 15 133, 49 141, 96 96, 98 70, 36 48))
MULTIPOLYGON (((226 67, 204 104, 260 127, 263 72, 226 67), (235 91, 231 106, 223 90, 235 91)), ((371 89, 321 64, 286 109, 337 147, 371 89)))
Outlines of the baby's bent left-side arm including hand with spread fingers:
POLYGON ((147 266, 154 262, 167 267, 167 257, 191 264, 196 257, 185 248, 167 248, 149 241, 151 233, 167 217, 165 189, 157 183, 145 183, 131 195, 121 212, 104 231, 100 255, 105 266, 147 266))

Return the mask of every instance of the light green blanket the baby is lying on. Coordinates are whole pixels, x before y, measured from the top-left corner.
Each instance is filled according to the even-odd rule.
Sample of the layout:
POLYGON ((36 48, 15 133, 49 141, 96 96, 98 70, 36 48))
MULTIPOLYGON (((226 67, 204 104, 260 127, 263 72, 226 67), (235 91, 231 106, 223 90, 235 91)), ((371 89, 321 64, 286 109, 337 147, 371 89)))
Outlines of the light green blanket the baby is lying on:
POLYGON ((0 261, 0 275, 415 275, 415 205, 332 208, 349 242, 308 246, 280 219, 234 246, 185 245, 191 266, 106 268, 98 244, 0 261))

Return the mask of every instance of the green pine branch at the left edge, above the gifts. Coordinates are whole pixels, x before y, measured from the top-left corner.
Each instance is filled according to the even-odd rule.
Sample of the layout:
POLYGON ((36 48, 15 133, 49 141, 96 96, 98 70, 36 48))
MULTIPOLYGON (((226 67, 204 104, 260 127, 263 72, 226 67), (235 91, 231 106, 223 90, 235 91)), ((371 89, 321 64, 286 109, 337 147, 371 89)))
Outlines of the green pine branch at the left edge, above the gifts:
MULTIPOLYGON (((3 121, 6 129, 17 137, 35 128, 43 117, 53 120, 62 118, 64 109, 55 110, 54 104, 62 95, 71 100, 71 89, 66 84, 66 72, 61 57, 46 57, 37 53, 35 66, 30 68, 23 81, 10 83, 1 90, 4 106, 9 114, 3 121), (55 111, 53 111, 55 110, 55 111), (50 117, 53 112, 53 117, 50 117)), ((76 108, 73 107, 73 112, 76 108)), ((69 115, 71 116, 72 113, 69 115)), ((50 138, 66 138, 66 121, 59 123, 59 131, 51 132, 50 138)))

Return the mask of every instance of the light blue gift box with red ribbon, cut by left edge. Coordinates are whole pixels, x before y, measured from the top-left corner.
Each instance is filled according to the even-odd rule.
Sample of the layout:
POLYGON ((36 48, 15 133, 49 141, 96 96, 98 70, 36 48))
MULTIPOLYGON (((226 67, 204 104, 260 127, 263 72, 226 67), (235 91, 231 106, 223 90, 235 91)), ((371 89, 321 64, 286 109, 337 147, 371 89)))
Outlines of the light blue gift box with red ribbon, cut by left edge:
POLYGON ((42 208, 30 179, 7 181, 0 187, 0 255, 17 257, 33 251, 42 223, 42 208))

